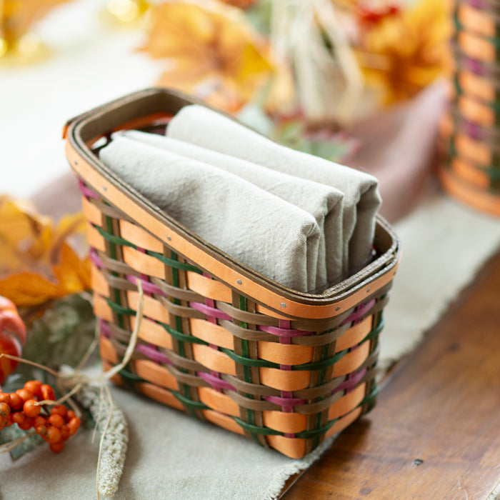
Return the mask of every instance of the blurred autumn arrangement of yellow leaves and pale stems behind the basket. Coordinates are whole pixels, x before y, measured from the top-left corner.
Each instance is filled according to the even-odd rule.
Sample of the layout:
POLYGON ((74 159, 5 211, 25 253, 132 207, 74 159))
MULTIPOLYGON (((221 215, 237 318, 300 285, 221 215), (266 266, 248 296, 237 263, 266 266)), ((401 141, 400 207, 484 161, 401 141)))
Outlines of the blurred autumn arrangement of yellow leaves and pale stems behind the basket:
POLYGON ((442 74, 450 30, 440 0, 171 0, 141 51, 164 61, 160 86, 338 159, 354 147, 339 130, 442 74))

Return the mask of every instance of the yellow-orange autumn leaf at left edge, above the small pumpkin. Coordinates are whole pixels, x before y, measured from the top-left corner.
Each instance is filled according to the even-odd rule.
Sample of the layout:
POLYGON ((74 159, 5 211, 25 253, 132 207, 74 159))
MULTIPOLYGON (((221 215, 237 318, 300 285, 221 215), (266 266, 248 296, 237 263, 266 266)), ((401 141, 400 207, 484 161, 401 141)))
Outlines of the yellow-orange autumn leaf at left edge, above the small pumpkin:
POLYGON ((0 196, 0 295, 34 306, 89 289, 89 259, 69 245, 85 226, 82 214, 55 225, 29 202, 0 196))

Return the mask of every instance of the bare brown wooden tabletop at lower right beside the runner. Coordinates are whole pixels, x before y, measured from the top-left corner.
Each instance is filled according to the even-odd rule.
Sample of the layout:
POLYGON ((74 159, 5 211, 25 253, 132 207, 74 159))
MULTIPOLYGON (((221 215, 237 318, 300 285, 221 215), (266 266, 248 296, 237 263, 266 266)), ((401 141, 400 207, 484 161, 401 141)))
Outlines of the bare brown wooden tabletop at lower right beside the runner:
POLYGON ((500 254, 280 498, 494 500, 499 483, 500 254))

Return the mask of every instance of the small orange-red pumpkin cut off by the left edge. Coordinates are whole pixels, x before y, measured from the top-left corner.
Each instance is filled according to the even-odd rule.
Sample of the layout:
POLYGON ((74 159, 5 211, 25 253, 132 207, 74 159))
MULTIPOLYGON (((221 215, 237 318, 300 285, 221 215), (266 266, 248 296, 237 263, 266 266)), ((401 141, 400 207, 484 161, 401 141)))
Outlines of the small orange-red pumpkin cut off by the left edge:
MULTIPOLYGON (((19 317, 14 302, 0 295, 0 353, 21 356, 21 349, 26 342, 26 326, 19 317)), ((17 361, 0 358, 0 384, 7 375, 14 371, 17 361)))

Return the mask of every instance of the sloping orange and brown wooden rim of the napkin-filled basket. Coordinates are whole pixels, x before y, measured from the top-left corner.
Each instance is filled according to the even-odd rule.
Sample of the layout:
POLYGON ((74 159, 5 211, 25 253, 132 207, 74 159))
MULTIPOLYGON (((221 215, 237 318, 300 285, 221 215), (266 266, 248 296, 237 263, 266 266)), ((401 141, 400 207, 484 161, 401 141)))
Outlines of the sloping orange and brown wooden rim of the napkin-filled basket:
POLYGON ((169 108, 171 114, 188 104, 205 106, 178 91, 145 89, 76 116, 64 127, 71 168, 99 196, 164 244, 240 294, 279 314, 310 319, 337 316, 391 282, 399 264, 399 241, 380 217, 375 239, 381 255, 377 259, 322 294, 302 293, 262 276, 181 226, 116 177, 91 151, 91 144, 111 131, 146 124, 161 117, 161 109, 169 108))

